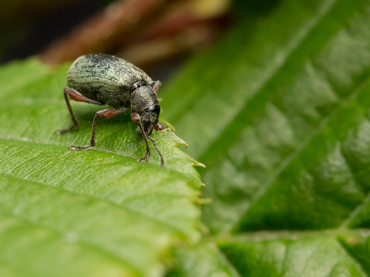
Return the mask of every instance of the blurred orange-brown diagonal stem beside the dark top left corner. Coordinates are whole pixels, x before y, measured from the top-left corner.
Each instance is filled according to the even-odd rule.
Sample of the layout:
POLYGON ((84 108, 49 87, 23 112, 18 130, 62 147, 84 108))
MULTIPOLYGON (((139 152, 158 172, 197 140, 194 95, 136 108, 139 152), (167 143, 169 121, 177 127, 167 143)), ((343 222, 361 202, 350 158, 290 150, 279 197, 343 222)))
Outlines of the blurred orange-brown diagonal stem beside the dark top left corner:
POLYGON ((40 58, 49 64, 72 61, 89 52, 105 52, 120 37, 132 31, 141 21, 155 17, 156 12, 170 0, 126 0, 110 4, 67 37, 55 41, 40 58))

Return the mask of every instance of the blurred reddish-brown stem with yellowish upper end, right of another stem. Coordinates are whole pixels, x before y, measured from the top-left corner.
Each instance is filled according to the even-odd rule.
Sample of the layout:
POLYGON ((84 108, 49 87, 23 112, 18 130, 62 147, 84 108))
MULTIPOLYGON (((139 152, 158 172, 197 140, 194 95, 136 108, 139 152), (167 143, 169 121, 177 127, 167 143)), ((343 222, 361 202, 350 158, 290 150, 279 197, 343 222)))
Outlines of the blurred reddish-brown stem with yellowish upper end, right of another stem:
MULTIPOLYGON (((186 0, 168 5, 157 21, 132 34, 131 41, 122 41, 118 57, 145 67, 146 64, 205 47, 230 23, 230 18, 225 15, 228 0, 217 1, 224 5, 213 10, 209 10, 208 0, 186 0), (203 12, 199 11, 201 3, 203 12)), ((215 4, 214 1, 212 3, 215 4)))

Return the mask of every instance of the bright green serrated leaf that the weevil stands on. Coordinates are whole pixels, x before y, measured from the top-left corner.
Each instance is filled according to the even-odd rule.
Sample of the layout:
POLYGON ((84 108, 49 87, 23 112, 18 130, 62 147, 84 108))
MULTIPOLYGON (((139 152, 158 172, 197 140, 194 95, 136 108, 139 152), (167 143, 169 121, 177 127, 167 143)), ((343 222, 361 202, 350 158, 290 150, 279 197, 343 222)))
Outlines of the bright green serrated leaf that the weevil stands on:
POLYGON ((169 247, 201 235, 198 163, 178 149, 169 129, 144 141, 129 113, 97 124, 97 147, 86 144, 98 106, 63 98, 67 66, 52 70, 35 60, 3 67, 0 92, 0 275, 161 276, 169 247), (7 83, 9 82, 9 83, 7 83))

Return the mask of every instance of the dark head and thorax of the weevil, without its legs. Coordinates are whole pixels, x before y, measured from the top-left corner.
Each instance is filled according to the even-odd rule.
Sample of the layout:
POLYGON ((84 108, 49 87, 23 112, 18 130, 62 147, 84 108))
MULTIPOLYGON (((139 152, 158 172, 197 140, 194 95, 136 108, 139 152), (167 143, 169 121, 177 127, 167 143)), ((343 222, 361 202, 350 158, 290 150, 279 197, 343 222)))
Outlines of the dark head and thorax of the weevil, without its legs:
MULTIPOLYGON (((161 112, 157 94, 150 86, 141 86, 131 93, 131 112, 140 114, 142 127, 150 135, 161 112)), ((139 127, 137 131, 141 135, 139 127)))

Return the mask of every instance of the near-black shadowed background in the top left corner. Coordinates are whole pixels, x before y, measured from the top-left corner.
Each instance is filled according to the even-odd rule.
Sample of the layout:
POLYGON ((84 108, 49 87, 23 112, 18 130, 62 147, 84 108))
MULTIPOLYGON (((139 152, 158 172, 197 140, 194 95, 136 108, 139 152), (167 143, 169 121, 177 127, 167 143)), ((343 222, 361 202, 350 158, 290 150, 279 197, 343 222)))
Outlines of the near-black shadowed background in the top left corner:
POLYGON ((0 63, 38 54, 40 49, 46 48, 52 41, 70 32, 73 27, 101 10, 105 4, 107 3, 99 0, 68 2, 51 7, 38 15, 32 11, 23 11, 17 22, 14 22, 14 18, 5 20, 3 27, 8 28, 0 31, 0 48, 3 52, 0 55, 0 63))

